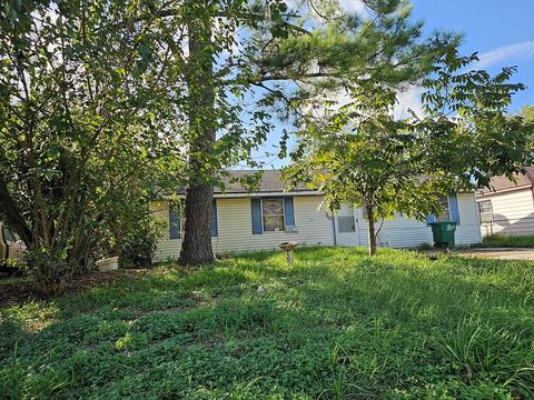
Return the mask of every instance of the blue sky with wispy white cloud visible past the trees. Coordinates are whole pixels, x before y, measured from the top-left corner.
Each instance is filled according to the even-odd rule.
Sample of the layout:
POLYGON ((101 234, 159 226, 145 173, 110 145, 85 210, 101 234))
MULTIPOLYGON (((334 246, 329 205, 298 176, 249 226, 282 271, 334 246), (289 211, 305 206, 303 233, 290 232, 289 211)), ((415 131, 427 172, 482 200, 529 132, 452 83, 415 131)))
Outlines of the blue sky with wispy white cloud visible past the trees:
MULTIPOLYGON (((359 0, 340 0, 348 9, 365 12, 359 0)), ((435 30, 455 31, 464 34, 462 53, 478 52, 481 62, 476 66, 492 73, 503 67, 516 66, 514 82, 522 82, 527 89, 517 93, 510 107, 515 112, 525 104, 534 106, 534 0, 412 0, 414 19, 425 22, 425 33, 435 30)), ((418 92, 405 93, 399 108, 417 108, 418 92)), ((273 132, 258 157, 273 151, 279 140, 279 130, 273 132)), ((265 166, 279 168, 287 160, 263 158, 271 161, 265 166)))

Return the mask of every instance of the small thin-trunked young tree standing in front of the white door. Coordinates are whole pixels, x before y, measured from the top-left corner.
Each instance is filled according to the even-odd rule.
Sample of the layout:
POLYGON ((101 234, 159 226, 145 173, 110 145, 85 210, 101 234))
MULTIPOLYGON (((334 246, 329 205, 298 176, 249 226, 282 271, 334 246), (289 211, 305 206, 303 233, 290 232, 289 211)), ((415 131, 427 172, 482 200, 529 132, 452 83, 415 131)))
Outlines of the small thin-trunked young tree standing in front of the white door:
POLYGON ((421 220, 436 213, 439 194, 452 182, 429 174, 426 138, 408 120, 394 118, 394 89, 362 93, 323 118, 307 119, 285 176, 318 188, 327 210, 337 211, 343 202, 362 207, 373 256, 378 219, 402 212, 421 220))

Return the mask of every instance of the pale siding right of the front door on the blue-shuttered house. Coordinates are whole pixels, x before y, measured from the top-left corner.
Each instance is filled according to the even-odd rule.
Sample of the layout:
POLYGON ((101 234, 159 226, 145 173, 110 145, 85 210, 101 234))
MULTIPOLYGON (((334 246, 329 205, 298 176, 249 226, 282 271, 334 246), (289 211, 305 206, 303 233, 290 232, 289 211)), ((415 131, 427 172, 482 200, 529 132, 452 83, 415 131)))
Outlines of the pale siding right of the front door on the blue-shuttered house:
MULTIPOLYGON (((479 243, 481 229, 478 223, 478 210, 473 193, 458 193, 459 224, 456 227, 456 244, 466 246, 479 243)), ((363 247, 368 246, 367 220, 363 211, 356 211, 359 238, 363 247)), ((376 229, 380 223, 376 223, 376 229)), ((397 216, 393 220, 385 220, 378 234, 378 243, 393 248, 415 248, 421 244, 433 244, 432 228, 426 222, 407 219, 397 216)))

